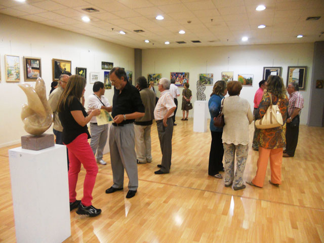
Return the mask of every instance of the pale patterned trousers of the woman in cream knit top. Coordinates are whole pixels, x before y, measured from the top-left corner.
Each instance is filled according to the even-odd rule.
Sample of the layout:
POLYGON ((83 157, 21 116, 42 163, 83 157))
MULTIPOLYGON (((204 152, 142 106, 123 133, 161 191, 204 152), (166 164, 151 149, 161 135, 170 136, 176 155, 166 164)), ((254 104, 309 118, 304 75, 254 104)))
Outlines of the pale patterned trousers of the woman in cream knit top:
POLYGON ((233 182, 234 186, 239 187, 244 184, 243 174, 245 170, 245 165, 247 163, 247 158, 249 154, 249 144, 227 144, 223 143, 224 146, 224 169, 225 185, 229 185, 233 182), (234 176, 234 160, 235 160, 235 150, 236 150, 236 171, 234 176))

